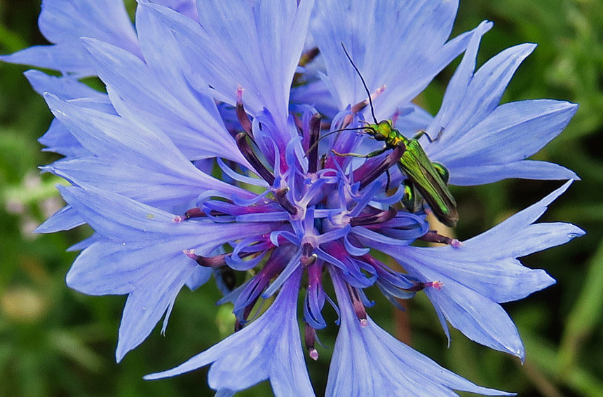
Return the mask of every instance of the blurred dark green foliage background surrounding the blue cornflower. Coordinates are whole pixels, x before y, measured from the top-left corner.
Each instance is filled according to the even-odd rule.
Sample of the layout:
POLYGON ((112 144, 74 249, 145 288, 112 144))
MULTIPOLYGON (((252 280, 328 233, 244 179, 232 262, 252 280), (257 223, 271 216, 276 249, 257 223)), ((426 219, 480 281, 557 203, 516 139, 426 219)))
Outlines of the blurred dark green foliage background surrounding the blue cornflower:
MULTIPOLYGON (((126 1, 130 11, 134 2, 126 1)), ((0 53, 45 43, 36 27, 39 0, 0 0, 0 53)), ((558 199, 543 221, 567 221, 585 237, 523 259, 547 270, 557 284, 505 305, 527 349, 517 358, 481 347, 458 332, 452 344, 424 296, 397 312, 369 291, 370 315, 384 328, 445 367, 485 386, 522 397, 603 396, 603 2, 600 0, 461 1, 454 34, 494 21, 482 41, 480 63, 517 43, 538 48, 520 67, 503 102, 565 99, 580 104, 567 130, 535 157, 573 169, 582 181, 558 199), (411 324, 410 331, 407 324, 411 324)), ((149 339, 116 364, 114 349, 123 296, 88 297, 65 286, 76 253, 68 246, 89 234, 79 228, 55 235, 32 230, 62 206, 56 179, 36 167, 57 160, 36 139, 51 116, 22 72, 0 64, 0 396, 212 396, 207 369, 145 382, 142 376, 177 365, 231 332, 228 307, 215 307, 212 283, 182 290, 165 337, 149 339)), ((446 69, 421 98, 438 110, 446 69)), ((456 188, 466 239, 560 186, 555 181, 502 181, 456 188)), ((420 295, 420 294, 419 294, 420 295)), ((326 312, 326 311, 325 311, 326 312)), ((323 394, 336 326, 320 333, 331 349, 309 363, 317 395, 323 394)), ((402 370, 402 369, 401 369, 402 370)), ((240 396, 269 396, 264 382, 240 396)), ((466 394, 468 396, 468 394, 466 394)))

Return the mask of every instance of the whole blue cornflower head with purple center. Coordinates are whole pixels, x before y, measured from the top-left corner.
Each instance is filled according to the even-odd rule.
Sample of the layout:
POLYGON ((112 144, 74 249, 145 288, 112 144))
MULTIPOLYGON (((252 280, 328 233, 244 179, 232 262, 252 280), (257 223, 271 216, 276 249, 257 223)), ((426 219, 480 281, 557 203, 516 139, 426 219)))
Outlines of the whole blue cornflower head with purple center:
MULTIPOLYGON (((576 105, 499 105, 533 45, 504 50, 475 71, 492 24, 449 40, 456 1, 140 0, 137 37, 116 3, 43 1, 40 28, 55 44, 2 59, 63 73, 26 72, 55 115, 41 143, 65 155, 42 169, 72 185, 60 187, 67 206, 39 232, 83 223, 95 230, 73 247, 81 253, 67 284, 89 295, 128 295, 118 361, 162 316, 165 331, 184 285, 198 288, 213 274, 221 302, 233 304, 236 332, 147 379, 210 365, 208 382, 219 396, 265 379, 276 396, 313 396, 299 321, 317 360, 328 302, 339 334, 327 396, 510 395, 388 335, 367 314, 365 289, 377 285, 395 305, 426 293, 447 335, 449 324, 524 358, 500 304, 555 282, 518 257, 583 234, 567 223, 534 223, 571 181, 463 243, 431 230, 422 199, 454 224, 433 208, 448 197, 447 181, 577 178, 525 160, 563 130, 576 105), (77 29, 65 28, 72 21, 77 29), (412 104, 463 52, 438 114, 412 104), (77 80, 90 75, 107 94, 77 80), (386 118, 396 141, 377 129, 386 118), (404 135, 418 130, 423 137, 404 135), (388 150, 379 150, 380 140, 388 150), (364 160, 349 155, 370 151, 364 160), (419 165, 433 168, 428 182, 405 160, 423 151, 419 165), (410 197, 412 188, 420 194, 410 197), (413 245, 419 240, 441 246, 413 245), (250 270, 242 285, 231 284, 232 272, 250 270), (271 305, 254 319, 262 302, 271 305)), ((454 198, 447 200, 456 211, 454 198)))

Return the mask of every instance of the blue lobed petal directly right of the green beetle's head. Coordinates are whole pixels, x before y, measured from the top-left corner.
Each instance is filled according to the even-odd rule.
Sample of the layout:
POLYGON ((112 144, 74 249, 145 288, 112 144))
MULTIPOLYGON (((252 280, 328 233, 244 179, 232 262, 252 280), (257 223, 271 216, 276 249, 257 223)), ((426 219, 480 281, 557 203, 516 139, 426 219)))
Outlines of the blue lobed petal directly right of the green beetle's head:
POLYGON ((510 177, 576 179, 576 174, 563 167, 517 164, 560 134, 577 106, 544 99, 499 106, 510 78, 535 45, 508 48, 474 74, 480 30, 485 29, 482 24, 473 35, 440 111, 427 128, 432 137, 443 133, 433 143, 424 142, 426 153, 448 167, 454 184, 510 177))

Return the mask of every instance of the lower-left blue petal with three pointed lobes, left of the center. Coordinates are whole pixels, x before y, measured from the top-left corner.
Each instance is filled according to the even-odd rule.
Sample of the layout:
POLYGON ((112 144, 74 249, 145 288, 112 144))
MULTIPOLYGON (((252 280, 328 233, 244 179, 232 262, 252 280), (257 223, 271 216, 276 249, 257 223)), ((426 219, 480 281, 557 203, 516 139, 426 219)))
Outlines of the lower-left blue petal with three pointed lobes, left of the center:
MULTIPOLYGON (((64 188, 65 200, 104 239, 75 261, 67 284, 83 293, 128 293, 119 332, 117 360, 140 344, 154 328, 197 267, 182 252, 208 255, 234 239, 263 235, 269 224, 174 223, 174 215, 114 193, 64 188)), ((165 328, 165 321, 164 321, 165 328)))

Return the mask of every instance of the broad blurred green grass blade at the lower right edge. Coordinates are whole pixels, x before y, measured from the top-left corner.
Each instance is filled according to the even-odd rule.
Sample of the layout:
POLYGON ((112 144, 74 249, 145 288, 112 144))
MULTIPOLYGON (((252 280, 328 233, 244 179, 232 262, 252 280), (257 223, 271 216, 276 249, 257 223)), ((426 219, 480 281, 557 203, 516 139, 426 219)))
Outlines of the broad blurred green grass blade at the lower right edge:
POLYGON ((603 243, 590 260, 585 284, 568 316, 558 355, 557 377, 567 378, 581 345, 601 320, 603 309, 603 243))

